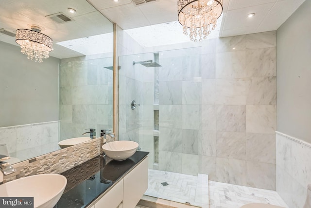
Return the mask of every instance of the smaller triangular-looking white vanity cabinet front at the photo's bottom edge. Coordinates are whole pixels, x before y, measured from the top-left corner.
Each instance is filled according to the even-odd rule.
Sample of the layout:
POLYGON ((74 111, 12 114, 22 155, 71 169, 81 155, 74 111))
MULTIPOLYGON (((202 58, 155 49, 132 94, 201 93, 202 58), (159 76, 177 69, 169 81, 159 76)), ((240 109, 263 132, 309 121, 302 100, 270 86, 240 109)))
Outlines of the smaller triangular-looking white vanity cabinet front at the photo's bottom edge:
POLYGON ((108 190, 108 192, 95 203, 95 208, 119 208, 122 200, 123 180, 118 182, 112 189, 108 190))

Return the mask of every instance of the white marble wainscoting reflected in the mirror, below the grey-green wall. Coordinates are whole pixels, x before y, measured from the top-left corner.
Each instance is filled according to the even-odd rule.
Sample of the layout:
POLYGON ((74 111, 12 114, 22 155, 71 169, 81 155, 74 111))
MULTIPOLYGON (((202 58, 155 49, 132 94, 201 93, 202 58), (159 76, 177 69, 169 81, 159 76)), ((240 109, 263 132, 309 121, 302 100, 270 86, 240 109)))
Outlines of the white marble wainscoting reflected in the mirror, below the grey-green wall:
MULTIPOLYGON (((0 144, 20 161, 58 149, 59 121, 0 128, 0 144)), ((0 152, 1 153, 1 152, 0 152)))

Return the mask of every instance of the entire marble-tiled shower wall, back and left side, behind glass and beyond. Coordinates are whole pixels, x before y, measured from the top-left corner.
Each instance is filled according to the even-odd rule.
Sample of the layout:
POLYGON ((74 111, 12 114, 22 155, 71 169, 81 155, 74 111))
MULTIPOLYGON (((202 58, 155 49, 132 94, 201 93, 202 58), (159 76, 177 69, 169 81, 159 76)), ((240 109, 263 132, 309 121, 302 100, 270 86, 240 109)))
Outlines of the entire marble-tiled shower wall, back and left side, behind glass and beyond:
MULTIPOLYGON (((159 52, 158 169, 205 173, 210 180, 276 189, 276 32, 190 46, 201 48, 159 52)), ((119 123, 119 132, 126 135, 123 139, 137 140, 151 157, 156 109, 153 68, 131 63, 153 59, 152 55, 122 57, 127 64, 120 61, 121 70, 125 68, 127 78, 120 76, 119 92, 131 94, 127 102, 137 97, 142 104, 133 111, 129 103, 121 103, 124 114, 119 119, 127 126, 122 129, 119 123), (132 90, 122 92, 122 82, 132 90), (133 115, 128 117, 129 113, 133 115)))

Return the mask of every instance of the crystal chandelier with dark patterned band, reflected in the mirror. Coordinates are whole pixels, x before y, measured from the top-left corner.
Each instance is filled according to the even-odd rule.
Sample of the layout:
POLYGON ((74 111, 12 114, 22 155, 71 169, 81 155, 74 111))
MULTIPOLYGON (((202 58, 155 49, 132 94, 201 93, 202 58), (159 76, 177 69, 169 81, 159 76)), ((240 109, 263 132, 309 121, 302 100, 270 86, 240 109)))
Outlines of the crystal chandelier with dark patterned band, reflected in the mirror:
POLYGON ((28 59, 42 63, 43 58, 49 57, 52 51, 53 40, 42 34, 41 29, 32 27, 32 30, 18 29, 16 31, 16 42, 20 45, 20 52, 27 55, 28 59))

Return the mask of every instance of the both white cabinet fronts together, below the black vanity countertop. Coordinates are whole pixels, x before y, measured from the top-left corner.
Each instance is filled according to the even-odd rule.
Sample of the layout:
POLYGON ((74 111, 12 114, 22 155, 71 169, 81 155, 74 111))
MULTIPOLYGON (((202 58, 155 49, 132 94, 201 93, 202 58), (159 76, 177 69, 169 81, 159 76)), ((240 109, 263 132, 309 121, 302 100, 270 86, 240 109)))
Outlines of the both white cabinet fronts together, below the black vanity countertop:
POLYGON ((87 208, 135 208, 148 188, 148 157, 87 208))

